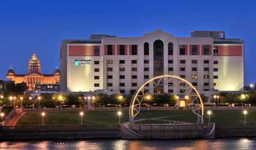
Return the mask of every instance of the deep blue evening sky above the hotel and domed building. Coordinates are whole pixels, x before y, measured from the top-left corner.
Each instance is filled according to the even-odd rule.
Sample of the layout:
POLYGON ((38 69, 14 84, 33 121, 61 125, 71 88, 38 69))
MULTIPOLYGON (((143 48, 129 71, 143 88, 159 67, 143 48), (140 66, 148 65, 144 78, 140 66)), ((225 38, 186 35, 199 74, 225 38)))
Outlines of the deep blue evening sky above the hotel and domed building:
MULTIPOLYGON (((190 31, 226 31, 245 40, 245 85, 256 83, 256 1, 1 1, 0 79, 10 66, 28 73, 37 53, 44 74, 59 66, 62 39, 90 34, 138 37, 162 29, 177 37, 190 31)), ((235 81, 234 81, 235 82, 235 81)))

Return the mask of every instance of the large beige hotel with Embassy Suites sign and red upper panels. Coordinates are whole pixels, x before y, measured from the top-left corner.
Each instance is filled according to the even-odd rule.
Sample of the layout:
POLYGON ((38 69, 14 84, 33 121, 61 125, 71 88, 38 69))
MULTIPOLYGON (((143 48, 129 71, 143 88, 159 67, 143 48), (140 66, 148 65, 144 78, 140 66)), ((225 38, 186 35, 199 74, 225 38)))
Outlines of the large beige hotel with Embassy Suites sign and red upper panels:
MULTIPOLYGON (((63 40, 61 91, 120 91, 129 94, 155 76, 186 79, 198 91, 242 91, 244 41, 224 31, 193 31, 176 37, 156 30, 141 37, 91 35, 63 40)), ((177 93, 173 86, 160 92, 177 93)))

